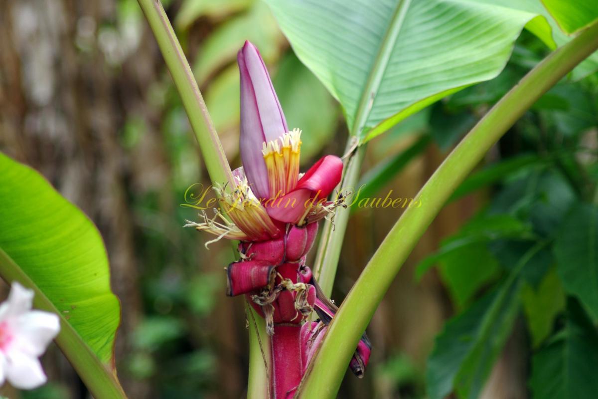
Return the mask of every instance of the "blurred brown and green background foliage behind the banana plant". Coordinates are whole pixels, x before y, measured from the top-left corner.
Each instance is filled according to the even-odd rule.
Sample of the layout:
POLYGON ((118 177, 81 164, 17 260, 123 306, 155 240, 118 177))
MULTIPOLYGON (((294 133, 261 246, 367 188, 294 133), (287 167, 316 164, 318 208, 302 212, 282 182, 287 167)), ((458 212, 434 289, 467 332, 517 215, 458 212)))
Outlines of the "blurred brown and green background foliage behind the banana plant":
MULTIPOLYGON (((340 107, 263 2, 162 3, 233 167, 240 165, 236 52, 246 39, 269 66, 289 127, 303 129, 304 165, 341 155, 340 107)), ((209 237, 181 227, 197 214, 187 188, 209 180, 136 1, 2 2, 0 48, 0 150, 40 170, 102 232, 123 306, 117 361, 129 397, 243 397, 243 301, 224 296, 222 272, 233 254, 220 242, 206 249, 209 237)), ((523 32, 498 77, 371 141, 361 196, 413 197, 549 51, 523 32)), ((598 74, 585 68, 584 78, 562 81, 539 100, 456 191, 374 315, 365 378, 348 375, 340 397, 441 398, 457 381, 469 397, 543 398, 551 397, 547 379, 575 381, 589 372, 584 367, 596 369, 598 212, 590 204, 598 74)), ((401 213, 352 211, 337 302, 401 213)), ((45 363, 50 383, 22 397, 86 397, 56 349, 45 363)))

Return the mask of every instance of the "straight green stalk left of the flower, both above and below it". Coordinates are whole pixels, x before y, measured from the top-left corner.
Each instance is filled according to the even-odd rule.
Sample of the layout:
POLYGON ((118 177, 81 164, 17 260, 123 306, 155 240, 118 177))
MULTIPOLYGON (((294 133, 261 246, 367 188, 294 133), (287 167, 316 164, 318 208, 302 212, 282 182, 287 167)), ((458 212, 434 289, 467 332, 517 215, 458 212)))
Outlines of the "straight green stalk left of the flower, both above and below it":
MULTIPOLYGON (((149 26, 154 32, 160 51, 164 56, 166 65, 175 82, 176 89, 181 95, 187 117, 195 132, 203 159, 206 163, 210 179, 213 183, 224 184, 233 187, 233 174, 222 150, 222 144, 212 118, 203 100, 202 93, 197 87, 197 81, 191 72, 191 67, 182 51, 181 44, 176 38, 175 31, 164 12, 160 0, 138 0, 141 9, 144 11, 149 26)), ((264 398, 262 385, 266 381, 267 368, 261 356, 261 348, 258 346, 258 335, 266 336, 266 327, 259 317, 255 316, 253 310, 251 315, 255 318, 255 324, 249 328, 249 386, 248 398, 264 398)), ((262 340, 264 350, 269 351, 269 340, 262 340)), ((269 360, 269 356, 266 357, 269 360)))

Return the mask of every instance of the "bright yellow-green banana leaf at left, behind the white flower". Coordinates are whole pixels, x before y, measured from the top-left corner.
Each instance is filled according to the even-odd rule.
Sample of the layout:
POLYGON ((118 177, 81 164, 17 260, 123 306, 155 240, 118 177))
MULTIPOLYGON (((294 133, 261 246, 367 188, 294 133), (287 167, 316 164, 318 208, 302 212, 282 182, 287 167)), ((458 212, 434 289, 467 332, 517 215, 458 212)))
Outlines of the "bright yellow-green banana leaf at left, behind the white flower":
POLYGON ((0 275, 33 288, 35 307, 60 316, 56 341, 92 393, 119 397, 114 338, 120 304, 110 290, 102 237, 35 170, 1 153, 0 275), (90 374, 100 388, 86 380, 90 374))

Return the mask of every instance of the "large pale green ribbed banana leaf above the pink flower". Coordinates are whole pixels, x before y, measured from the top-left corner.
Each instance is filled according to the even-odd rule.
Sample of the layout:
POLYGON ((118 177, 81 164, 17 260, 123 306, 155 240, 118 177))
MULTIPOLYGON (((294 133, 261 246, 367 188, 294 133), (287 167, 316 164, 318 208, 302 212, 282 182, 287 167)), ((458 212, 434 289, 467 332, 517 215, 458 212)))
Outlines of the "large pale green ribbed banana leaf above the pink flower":
POLYGON ((266 2, 362 141, 496 77, 524 26, 551 41, 544 17, 476 0, 266 2))

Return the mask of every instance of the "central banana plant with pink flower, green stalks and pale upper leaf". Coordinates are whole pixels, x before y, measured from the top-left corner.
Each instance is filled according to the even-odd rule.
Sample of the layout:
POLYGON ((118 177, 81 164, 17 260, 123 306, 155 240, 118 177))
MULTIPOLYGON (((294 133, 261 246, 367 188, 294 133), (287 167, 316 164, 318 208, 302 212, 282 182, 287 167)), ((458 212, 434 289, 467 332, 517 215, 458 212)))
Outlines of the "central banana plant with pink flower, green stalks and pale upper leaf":
MULTIPOLYGON (((299 133, 286 126, 264 63, 255 56, 257 50, 246 44, 239 53, 245 171, 231 173, 164 10, 159 2, 139 0, 181 92, 210 177, 222 187, 221 221, 216 224, 205 218, 191 225, 241 240, 242 259, 227 269, 227 293, 248 295, 258 313, 252 312, 252 319, 266 320, 266 334, 255 324, 252 335, 261 339, 252 339, 252 346, 270 343, 260 351, 269 355, 252 357, 248 396, 332 398, 347 366, 364 371, 371 348, 365 328, 405 258, 453 191, 536 100, 594 57, 598 13, 589 3, 563 7, 564 2, 546 1, 544 9, 532 0, 518 5, 507 0, 498 5, 474 0, 266 2, 298 58, 343 108, 350 132, 344 165, 328 156, 303 177, 297 175, 293 154, 298 156, 299 133), (553 31, 555 21, 572 36, 563 39, 562 33, 553 31), (348 210, 335 210, 334 229, 332 223, 325 224, 315 265, 308 267, 303 257, 315 236, 309 226, 317 226, 324 209, 332 212, 333 206, 341 204, 342 195, 325 199, 340 180, 340 168, 339 187, 355 185, 367 141, 431 103, 496 77, 522 29, 554 51, 462 139, 420 190, 419 206, 407 208, 390 230, 340 308, 329 306, 326 296, 331 292, 348 210), (203 115, 207 133, 194 121, 198 115, 203 115), (234 194, 227 193, 225 182, 234 194), (281 209, 273 199, 287 205, 281 209), (324 202, 319 207, 305 202, 289 209, 289 203, 305 199, 324 202), (302 238, 296 241, 295 237, 302 238), (312 309, 319 322, 307 319, 312 309)), ((517 287, 517 281, 508 287, 517 287)))

